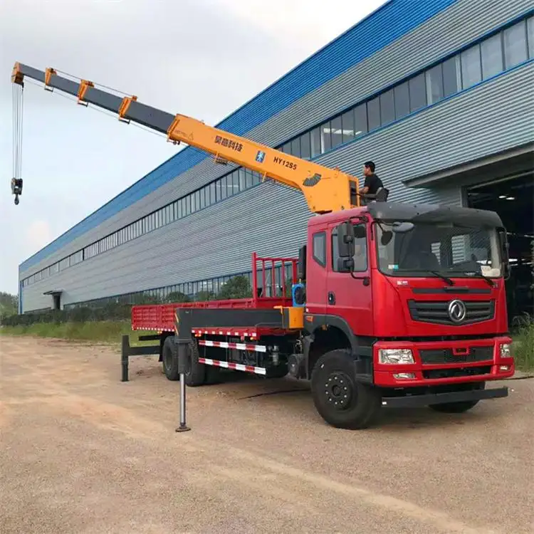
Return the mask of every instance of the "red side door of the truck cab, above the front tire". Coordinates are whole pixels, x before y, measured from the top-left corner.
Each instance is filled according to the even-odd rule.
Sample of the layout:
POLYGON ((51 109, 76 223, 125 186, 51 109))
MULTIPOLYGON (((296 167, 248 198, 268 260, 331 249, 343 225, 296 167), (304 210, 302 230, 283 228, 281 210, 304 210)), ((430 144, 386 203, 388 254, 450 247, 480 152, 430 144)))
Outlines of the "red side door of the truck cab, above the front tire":
MULTIPOLYGON (((326 283, 327 322, 335 324, 335 317, 345 320, 355 335, 372 335, 372 290, 370 250, 368 235, 357 237, 358 230, 364 232, 365 224, 354 224, 355 266, 350 272, 340 272, 337 266, 337 229, 339 224, 329 226, 328 278, 326 283), (330 317, 331 316, 331 317, 330 317)), ((338 321, 337 321, 338 322, 338 321)))

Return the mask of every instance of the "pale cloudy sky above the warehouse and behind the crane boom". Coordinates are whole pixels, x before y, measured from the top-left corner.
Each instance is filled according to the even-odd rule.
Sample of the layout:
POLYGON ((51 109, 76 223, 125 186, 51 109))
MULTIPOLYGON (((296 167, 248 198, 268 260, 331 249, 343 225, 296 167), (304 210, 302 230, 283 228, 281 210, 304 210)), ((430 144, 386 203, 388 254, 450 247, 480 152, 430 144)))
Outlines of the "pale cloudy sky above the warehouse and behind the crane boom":
MULTIPOLYGON (((384 0, 0 0, 0 291, 19 264, 179 147, 26 83, 19 206, 11 70, 92 80, 216 125, 384 0)), ((372 36, 371 36, 372 38, 372 36)))

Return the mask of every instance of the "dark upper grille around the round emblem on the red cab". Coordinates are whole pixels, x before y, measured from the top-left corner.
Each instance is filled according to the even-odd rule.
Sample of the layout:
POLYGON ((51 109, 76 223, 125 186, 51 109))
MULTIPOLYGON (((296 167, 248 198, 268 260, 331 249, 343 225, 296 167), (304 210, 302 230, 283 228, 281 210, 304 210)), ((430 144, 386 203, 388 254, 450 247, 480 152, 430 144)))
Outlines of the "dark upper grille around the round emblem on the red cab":
POLYGON ((472 325, 493 319, 495 305, 493 300, 464 300, 466 318, 454 323, 449 317, 449 300, 409 300, 408 308, 413 320, 437 325, 472 325))

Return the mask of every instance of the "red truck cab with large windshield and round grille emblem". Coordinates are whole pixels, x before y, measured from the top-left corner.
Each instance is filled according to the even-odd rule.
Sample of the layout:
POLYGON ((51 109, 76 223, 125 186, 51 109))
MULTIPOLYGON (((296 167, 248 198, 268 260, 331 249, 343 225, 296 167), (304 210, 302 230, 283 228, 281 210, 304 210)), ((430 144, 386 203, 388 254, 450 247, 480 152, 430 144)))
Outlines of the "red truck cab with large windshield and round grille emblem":
MULTIPOLYGON (((508 246, 496 213, 372 202, 315 216, 300 271, 308 333, 301 371, 312 382, 314 373, 325 387, 346 375, 379 391, 382 405, 413 404, 419 395, 458 412, 488 397, 487 381, 514 373, 508 246)), ((350 418, 333 389, 315 397, 330 419, 332 402, 340 420, 350 418)))

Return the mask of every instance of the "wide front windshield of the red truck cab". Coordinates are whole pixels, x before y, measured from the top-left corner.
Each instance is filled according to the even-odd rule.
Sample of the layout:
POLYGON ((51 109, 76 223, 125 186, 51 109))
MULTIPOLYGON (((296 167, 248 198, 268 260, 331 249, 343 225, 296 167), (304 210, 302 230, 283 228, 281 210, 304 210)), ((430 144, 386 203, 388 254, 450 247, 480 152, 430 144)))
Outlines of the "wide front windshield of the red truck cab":
POLYGON ((452 224, 394 224, 377 229, 378 267, 388 276, 501 276, 501 253, 496 229, 452 224))

